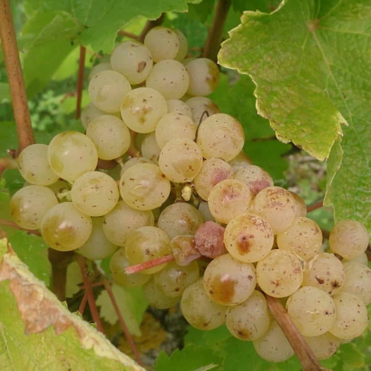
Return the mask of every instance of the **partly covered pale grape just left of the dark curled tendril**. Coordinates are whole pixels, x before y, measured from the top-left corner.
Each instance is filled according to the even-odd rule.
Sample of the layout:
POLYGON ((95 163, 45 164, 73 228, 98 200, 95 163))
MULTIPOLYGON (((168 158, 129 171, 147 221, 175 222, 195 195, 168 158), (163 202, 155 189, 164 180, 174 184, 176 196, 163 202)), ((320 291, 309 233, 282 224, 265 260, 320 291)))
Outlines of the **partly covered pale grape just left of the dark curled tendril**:
POLYGON ((196 125, 188 117, 180 114, 166 114, 158 121, 155 138, 161 149, 171 139, 185 138, 194 140, 196 125))

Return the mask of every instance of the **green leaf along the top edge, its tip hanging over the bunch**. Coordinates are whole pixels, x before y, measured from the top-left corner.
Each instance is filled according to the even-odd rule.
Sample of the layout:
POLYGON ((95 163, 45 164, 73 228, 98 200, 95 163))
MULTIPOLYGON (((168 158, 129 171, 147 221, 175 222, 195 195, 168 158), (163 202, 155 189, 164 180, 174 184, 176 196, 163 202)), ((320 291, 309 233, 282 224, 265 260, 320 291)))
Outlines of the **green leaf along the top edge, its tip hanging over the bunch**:
MULTIPOLYGON (((187 3, 197 1, 163 0, 33 0, 33 9, 68 14, 82 31, 78 39, 93 50, 111 52, 117 32, 138 16, 156 19, 168 11, 187 12, 187 3)), ((75 34, 77 36, 77 33, 75 34)))

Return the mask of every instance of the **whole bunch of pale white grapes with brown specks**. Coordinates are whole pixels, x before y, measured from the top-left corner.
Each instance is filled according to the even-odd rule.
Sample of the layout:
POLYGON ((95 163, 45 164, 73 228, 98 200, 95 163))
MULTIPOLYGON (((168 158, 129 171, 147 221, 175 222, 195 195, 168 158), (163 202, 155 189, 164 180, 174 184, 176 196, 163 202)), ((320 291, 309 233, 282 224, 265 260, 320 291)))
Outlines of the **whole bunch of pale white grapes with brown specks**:
POLYGON ((144 44, 116 46, 89 74, 86 134, 20 153, 26 185, 12 217, 53 249, 112 256, 115 282, 142 286, 157 308, 180 302, 198 329, 225 323, 271 362, 294 353, 265 295, 279 298, 316 357, 328 358, 367 326, 368 232, 340 221, 325 252, 301 197, 251 164, 240 122, 206 97, 217 65, 186 55, 183 33, 162 26, 144 44))

